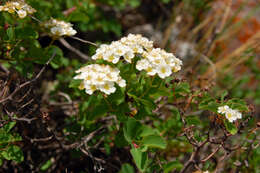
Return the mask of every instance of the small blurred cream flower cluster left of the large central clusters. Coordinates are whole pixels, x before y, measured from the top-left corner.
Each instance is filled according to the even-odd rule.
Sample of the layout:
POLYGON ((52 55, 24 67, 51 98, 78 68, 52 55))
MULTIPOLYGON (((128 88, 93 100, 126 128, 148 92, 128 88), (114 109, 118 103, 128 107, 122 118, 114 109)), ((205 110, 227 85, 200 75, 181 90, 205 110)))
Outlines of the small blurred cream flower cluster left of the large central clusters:
POLYGON ((64 21, 57 20, 57 19, 51 19, 45 22, 44 26, 50 29, 52 36, 56 36, 56 37, 60 37, 63 35, 72 36, 77 33, 77 31, 72 28, 71 23, 66 23, 64 21))

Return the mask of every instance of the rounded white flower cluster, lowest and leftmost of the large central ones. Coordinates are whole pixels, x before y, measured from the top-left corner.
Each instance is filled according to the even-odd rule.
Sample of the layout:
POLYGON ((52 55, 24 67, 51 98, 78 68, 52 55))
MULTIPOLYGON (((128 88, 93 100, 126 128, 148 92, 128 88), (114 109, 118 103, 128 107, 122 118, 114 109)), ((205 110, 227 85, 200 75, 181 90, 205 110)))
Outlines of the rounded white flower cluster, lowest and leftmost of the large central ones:
POLYGON ((76 71, 79 73, 74 79, 82 79, 79 89, 85 89, 87 94, 92 94, 96 90, 100 90, 109 95, 116 91, 115 83, 120 87, 126 86, 126 81, 119 75, 117 68, 109 65, 91 64, 84 66, 76 71))

